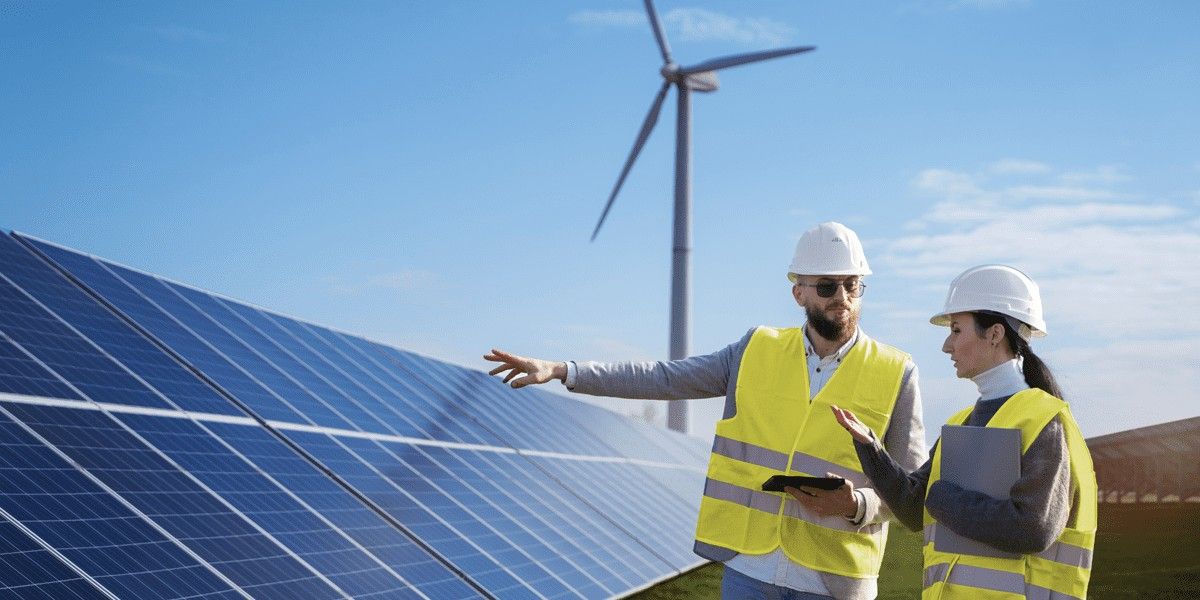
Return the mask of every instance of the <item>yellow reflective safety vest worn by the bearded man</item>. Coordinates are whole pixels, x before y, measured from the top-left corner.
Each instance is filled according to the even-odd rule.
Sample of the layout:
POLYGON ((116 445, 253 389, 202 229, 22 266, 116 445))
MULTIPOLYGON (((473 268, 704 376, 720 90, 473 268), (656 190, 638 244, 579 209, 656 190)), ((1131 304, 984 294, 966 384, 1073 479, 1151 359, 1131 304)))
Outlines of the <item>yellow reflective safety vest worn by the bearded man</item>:
POLYGON ((882 439, 907 361, 907 354, 864 336, 810 402, 804 330, 755 330, 738 370, 737 413, 716 422, 696 540, 745 554, 782 547, 817 571, 878 576, 886 523, 821 517, 786 493, 763 492, 762 482, 780 473, 830 472, 869 487, 853 440, 829 406, 853 410, 882 439))

